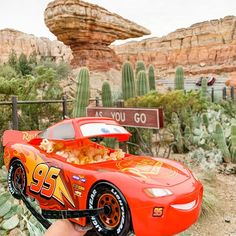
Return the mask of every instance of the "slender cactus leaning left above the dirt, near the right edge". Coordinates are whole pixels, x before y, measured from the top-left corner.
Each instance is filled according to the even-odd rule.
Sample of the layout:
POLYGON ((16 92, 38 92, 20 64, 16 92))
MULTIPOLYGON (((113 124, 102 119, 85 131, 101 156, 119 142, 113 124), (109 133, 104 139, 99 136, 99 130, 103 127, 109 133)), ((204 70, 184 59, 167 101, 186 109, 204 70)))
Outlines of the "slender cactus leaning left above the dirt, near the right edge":
POLYGON ((215 139, 215 142, 216 142, 218 148, 221 150, 221 152, 223 154, 224 161, 230 162, 231 161, 230 152, 229 152, 228 146, 225 141, 225 135, 224 135, 223 128, 220 123, 216 124, 214 139, 215 139))

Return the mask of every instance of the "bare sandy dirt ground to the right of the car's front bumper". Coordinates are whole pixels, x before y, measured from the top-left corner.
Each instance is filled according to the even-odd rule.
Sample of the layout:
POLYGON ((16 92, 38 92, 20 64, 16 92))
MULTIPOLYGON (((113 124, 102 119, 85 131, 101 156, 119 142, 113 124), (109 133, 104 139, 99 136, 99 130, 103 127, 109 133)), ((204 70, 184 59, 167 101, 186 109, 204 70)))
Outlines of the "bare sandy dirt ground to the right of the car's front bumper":
POLYGON ((179 236, 236 236, 236 175, 217 174, 213 187, 215 215, 200 219, 179 236))

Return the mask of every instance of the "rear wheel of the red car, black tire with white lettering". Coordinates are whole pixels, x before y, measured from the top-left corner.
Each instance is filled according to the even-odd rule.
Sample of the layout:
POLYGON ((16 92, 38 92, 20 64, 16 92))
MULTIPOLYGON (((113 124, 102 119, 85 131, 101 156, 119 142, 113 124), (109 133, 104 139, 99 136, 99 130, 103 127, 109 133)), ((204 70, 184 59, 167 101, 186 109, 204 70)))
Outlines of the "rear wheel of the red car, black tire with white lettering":
POLYGON ((14 160, 11 163, 7 181, 11 195, 16 199, 21 199, 20 191, 25 193, 26 190, 26 173, 20 160, 14 160))

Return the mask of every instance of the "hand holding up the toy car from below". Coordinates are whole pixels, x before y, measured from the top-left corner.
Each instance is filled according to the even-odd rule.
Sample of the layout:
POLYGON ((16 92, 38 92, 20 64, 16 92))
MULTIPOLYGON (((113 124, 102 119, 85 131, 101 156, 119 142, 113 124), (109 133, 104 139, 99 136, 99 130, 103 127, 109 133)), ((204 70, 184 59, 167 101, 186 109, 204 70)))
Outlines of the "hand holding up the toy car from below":
POLYGON ((88 230, 88 227, 80 227, 69 220, 58 220, 48 228, 44 236, 84 236, 88 230))

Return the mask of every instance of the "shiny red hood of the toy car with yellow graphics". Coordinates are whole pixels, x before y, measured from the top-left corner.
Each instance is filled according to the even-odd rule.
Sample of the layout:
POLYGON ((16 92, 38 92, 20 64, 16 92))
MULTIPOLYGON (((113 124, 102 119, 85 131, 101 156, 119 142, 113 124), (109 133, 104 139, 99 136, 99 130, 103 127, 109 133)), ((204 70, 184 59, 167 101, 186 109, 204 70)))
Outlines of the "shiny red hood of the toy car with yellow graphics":
POLYGON ((142 183, 159 186, 177 185, 190 178, 189 170, 175 161, 132 155, 119 161, 96 164, 96 169, 121 172, 142 183))

